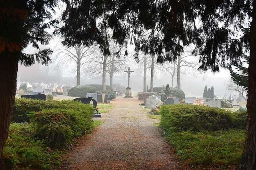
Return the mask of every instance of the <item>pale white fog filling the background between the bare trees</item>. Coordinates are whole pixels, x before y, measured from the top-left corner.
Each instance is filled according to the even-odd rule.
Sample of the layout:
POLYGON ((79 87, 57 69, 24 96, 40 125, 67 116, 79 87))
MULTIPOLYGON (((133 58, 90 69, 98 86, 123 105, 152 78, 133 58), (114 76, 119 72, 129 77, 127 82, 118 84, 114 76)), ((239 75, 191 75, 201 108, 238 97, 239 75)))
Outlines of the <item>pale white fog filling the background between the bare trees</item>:
MULTIPOLYGON (((61 40, 59 38, 54 38, 51 43, 47 46, 41 46, 41 48, 51 47, 54 50, 51 56, 52 62, 47 66, 35 63, 30 67, 20 66, 18 69, 17 81, 18 84, 22 82, 31 83, 56 83, 56 84, 66 84, 67 86, 76 86, 76 63, 68 62, 61 63, 57 54, 58 49, 65 48, 61 45, 61 40)), ((120 68, 118 72, 114 74, 113 83, 120 84, 122 86, 128 85, 128 75, 124 72, 128 67, 134 72, 130 75, 130 87, 132 88, 133 95, 137 92, 143 91, 143 59, 137 63, 133 58, 134 47, 130 46, 128 48, 128 56, 124 57, 125 66, 120 68)), ((34 48, 29 46, 24 50, 26 53, 35 53, 34 48)), ((99 52, 97 52, 99 53, 99 52)), ((122 56, 121 56, 122 57, 122 56)), ((89 57, 90 58, 90 57, 89 57)), ((90 59, 91 60, 91 59, 90 59)), ((188 61, 194 61, 198 63, 198 57, 191 56, 188 57, 188 61)), ((148 61, 147 69, 147 85, 150 89, 150 62, 148 61)), ((91 63, 84 64, 81 67, 81 80, 80 84, 102 84, 102 73, 97 75, 92 74, 88 71, 91 63)), ((155 63, 154 68, 154 87, 166 86, 167 84, 172 84, 172 76, 166 70, 161 70, 159 68, 163 67, 161 64, 155 63)), ((197 66, 198 68, 198 66, 197 66)), ((225 83, 230 79, 230 73, 228 70, 220 69, 217 73, 212 73, 210 70, 208 72, 200 72, 195 69, 184 67, 181 70, 181 89, 184 91, 186 97, 201 97, 204 91, 204 86, 207 87, 214 86, 214 94, 219 98, 222 98, 225 94, 226 96, 238 95, 237 92, 232 92, 226 89, 225 83)), ((106 85, 110 85, 110 76, 106 74, 106 85)), ((177 76, 174 76, 174 87, 177 86, 177 76)), ((18 87, 17 87, 18 88, 18 87)))

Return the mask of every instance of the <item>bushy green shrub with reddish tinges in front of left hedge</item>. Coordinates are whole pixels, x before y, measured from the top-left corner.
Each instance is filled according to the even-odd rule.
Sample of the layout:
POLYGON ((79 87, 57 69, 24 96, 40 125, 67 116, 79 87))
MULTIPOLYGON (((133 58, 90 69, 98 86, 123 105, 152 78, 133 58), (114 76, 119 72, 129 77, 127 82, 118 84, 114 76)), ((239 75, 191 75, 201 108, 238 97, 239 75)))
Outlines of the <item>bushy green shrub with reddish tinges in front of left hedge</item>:
POLYGON ((76 137, 90 133, 93 109, 47 109, 32 114, 35 136, 50 147, 60 148, 74 142, 76 137))

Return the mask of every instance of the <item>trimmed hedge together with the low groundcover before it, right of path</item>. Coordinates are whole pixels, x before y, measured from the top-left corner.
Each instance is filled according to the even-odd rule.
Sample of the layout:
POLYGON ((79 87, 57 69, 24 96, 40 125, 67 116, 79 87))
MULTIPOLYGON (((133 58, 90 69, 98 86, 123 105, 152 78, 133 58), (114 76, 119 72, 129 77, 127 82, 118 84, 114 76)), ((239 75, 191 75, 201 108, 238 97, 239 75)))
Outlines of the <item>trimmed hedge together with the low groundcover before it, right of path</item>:
POLYGON ((160 115, 165 139, 186 164, 227 168, 240 161, 246 112, 180 104, 162 106, 160 115))

